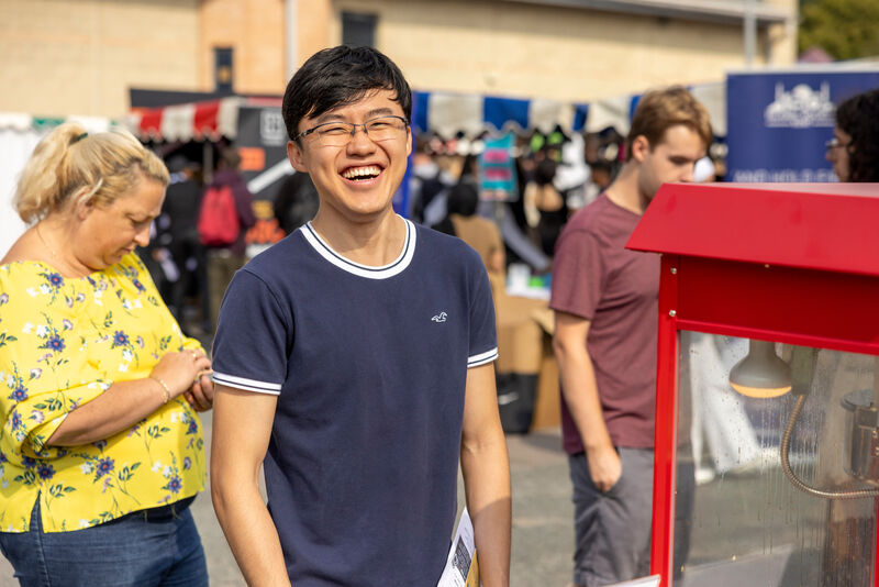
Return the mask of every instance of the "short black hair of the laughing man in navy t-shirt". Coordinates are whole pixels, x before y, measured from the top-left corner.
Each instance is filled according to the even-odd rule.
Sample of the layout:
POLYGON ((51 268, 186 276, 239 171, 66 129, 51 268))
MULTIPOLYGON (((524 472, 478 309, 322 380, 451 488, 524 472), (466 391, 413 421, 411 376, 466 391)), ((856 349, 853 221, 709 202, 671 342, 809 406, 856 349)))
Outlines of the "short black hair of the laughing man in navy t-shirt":
POLYGON ((292 140, 299 121, 320 117, 361 99, 367 92, 391 90, 393 100, 412 115, 412 91, 400 68, 372 47, 340 45, 319 51, 297 70, 283 92, 283 123, 292 140))

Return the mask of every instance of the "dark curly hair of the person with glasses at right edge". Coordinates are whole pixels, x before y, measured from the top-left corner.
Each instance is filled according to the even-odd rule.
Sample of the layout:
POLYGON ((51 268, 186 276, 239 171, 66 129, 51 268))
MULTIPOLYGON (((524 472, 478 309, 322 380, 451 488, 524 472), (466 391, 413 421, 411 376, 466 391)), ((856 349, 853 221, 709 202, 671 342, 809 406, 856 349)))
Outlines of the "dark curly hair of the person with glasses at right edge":
POLYGON ((879 89, 865 91, 836 109, 836 125, 852 135, 848 181, 879 181, 879 89))

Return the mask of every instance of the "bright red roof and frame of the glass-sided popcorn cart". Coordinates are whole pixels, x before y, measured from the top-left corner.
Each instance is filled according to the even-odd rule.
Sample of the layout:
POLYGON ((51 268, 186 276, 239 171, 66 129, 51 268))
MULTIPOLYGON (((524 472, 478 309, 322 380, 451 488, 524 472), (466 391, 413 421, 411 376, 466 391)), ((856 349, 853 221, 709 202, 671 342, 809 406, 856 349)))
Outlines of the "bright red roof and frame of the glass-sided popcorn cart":
POLYGON ((669 587, 678 332, 879 355, 879 184, 669 184, 627 247, 663 254, 650 565, 669 587))

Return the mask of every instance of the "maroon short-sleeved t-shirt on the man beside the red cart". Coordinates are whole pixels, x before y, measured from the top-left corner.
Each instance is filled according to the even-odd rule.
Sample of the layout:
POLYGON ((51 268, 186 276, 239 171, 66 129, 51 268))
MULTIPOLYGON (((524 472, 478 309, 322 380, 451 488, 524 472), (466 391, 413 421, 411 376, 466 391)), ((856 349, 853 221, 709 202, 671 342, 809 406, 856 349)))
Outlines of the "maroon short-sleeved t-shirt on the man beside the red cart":
MULTIPOLYGON (((592 359, 604 422, 615 446, 654 445, 659 255, 627 251, 641 217, 605 195, 577 212, 556 245, 549 307, 591 322, 592 359)), ((583 444, 561 401, 565 451, 583 444)))

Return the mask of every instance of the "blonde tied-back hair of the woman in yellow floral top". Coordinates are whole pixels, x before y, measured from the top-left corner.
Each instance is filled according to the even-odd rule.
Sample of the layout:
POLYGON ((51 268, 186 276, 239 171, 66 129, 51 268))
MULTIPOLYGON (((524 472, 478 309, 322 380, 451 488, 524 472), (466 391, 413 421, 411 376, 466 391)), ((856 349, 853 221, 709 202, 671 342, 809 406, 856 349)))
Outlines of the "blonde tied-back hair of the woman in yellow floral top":
POLYGON ((12 204, 26 223, 38 222, 71 198, 105 206, 142 179, 168 185, 168 169, 124 130, 88 134, 82 125, 59 125, 40 144, 19 179, 12 204))

